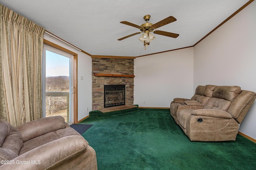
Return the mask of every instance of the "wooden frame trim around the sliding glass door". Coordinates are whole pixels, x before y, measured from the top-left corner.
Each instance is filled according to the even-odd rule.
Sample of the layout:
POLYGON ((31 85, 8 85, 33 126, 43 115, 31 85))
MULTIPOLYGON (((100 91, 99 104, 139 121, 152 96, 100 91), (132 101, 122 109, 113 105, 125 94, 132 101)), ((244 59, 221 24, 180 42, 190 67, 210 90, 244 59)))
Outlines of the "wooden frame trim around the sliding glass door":
POLYGON ((74 82, 73 82, 73 114, 74 114, 74 123, 78 123, 78 95, 77 95, 77 58, 78 58, 78 54, 74 53, 73 51, 70 51, 68 49, 65 49, 64 47, 61 47, 57 44, 54 44, 46 39, 44 39, 44 44, 48 45, 50 47, 53 47, 55 49, 58 49, 60 51, 63 51, 65 53, 68 53, 70 55, 73 55, 73 76, 74 76, 74 82))

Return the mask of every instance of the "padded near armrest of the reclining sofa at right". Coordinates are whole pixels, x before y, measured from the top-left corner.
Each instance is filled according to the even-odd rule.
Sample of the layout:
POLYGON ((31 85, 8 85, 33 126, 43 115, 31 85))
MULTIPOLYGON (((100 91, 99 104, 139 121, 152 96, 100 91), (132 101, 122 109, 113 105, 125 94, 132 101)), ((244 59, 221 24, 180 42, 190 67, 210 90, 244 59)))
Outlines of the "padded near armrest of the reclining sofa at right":
POLYGON ((224 119, 232 118, 232 115, 230 115, 228 112, 218 109, 197 109, 193 110, 191 115, 218 117, 224 119))

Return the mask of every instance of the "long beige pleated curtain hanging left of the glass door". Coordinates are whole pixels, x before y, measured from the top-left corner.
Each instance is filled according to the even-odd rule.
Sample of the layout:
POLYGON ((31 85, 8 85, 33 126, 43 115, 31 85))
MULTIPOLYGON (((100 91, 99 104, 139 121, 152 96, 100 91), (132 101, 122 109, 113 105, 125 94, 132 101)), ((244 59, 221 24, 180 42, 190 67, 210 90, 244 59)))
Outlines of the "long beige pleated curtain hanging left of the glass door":
POLYGON ((14 126, 42 117, 44 28, 0 4, 0 117, 14 126))

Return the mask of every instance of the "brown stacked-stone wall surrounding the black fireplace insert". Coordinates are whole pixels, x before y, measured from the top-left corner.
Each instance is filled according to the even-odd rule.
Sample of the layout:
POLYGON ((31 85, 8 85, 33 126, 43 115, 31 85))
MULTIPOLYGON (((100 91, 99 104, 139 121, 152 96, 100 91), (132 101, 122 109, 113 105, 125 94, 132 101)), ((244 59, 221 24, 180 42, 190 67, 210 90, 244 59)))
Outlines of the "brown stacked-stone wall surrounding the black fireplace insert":
POLYGON ((133 105, 134 78, 94 76, 101 74, 134 74, 134 59, 92 58, 92 110, 104 108, 104 85, 125 84, 125 104, 133 105))

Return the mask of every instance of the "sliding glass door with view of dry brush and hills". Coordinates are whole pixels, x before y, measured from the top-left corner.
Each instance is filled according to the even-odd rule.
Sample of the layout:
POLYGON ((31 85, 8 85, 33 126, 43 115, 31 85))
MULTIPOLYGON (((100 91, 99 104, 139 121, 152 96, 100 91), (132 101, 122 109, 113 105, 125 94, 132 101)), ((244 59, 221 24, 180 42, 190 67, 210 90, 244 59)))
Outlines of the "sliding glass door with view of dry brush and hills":
POLYGON ((73 56, 47 45, 43 51, 43 117, 61 115, 73 123, 73 56))

